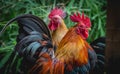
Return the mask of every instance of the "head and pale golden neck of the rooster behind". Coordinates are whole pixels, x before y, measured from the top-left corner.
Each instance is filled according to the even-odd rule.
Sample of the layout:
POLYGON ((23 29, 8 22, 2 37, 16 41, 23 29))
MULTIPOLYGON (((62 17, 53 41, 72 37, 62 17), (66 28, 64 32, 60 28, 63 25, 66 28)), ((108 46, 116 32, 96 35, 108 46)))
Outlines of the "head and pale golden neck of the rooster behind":
POLYGON ((48 15, 50 22, 48 28, 51 31, 53 44, 56 47, 59 45, 60 41, 67 33, 68 29, 65 25, 64 18, 66 14, 61 8, 54 8, 48 15))

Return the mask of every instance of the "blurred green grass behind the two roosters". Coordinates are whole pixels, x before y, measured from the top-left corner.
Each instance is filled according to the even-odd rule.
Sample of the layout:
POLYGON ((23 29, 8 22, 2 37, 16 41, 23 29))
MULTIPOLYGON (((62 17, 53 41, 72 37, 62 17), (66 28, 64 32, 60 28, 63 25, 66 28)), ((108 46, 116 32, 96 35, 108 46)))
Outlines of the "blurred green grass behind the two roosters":
MULTIPOLYGON (((67 13, 65 23, 68 28, 74 25, 70 21, 69 15, 79 11, 88 15, 92 22, 90 36, 87 41, 105 36, 106 32, 106 0, 0 0, 0 31, 3 26, 12 18, 31 13, 41 17, 48 24, 48 14, 56 5, 62 6, 67 13)), ((18 26, 13 23, 7 27, 4 34, 0 37, 0 63, 3 65, 11 54, 16 44, 18 26)), ((1 65, 0 65, 1 67, 1 65)))

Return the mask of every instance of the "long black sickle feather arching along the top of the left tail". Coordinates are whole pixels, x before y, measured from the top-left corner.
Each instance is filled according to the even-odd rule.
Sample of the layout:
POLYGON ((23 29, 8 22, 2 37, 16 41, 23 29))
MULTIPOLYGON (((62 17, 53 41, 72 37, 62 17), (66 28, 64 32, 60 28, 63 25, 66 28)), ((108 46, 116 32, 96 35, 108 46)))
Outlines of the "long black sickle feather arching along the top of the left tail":
MULTIPOLYGON (((51 36, 50 36, 50 32, 49 32, 49 29, 47 28, 47 25, 43 22, 43 20, 42 19, 40 19, 40 18, 38 18, 37 16, 34 16, 34 15, 31 15, 31 14, 24 14, 24 15, 20 15, 20 16, 17 16, 17 17, 15 17, 15 18, 13 18, 13 19, 11 19, 5 26, 4 26, 4 28, 2 29, 2 31, 0 32, 0 36, 2 35, 2 33, 5 31, 5 29, 7 28, 7 26, 9 26, 12 22, 14 22, 14 21, 18 21, 18 23, 20 23, 19 24, 19 27, 22 27, 22 25, 24 25, 25 26, 25 22, 27 22, 27 23, 33 23, 32 25, 29 25, 28 26, 28 24, 26 24, 26 26, 29 28, 29 29, 33 29, 34 28, 34 30, 38 30, 39 28, 41 28, 41 30, 46 34, 46 35, 48 35, 50 38, 51 38, 51 36), (22 20, 22 19, 24 18, 24 20, 22 20), (26 18, 26 19, 25 19, 26 18), (21 19, 21 20, 20 20, 21 19), (31 21, 29 21, 29 20, 27 20, 27 19, 29 19, 29 20, 31 20, 31 21), (21 23, 21 22, 23 22, 23 24, 21 23), (36 24, 38 24, 38 25, 36 25, 35 26, 35 24, 34 23, 36 23, 36 24), (39 28, 38 28, 39 27, 39 28), (38 29, 36 29, 36 28, 38 28, 38 29)), ((21 29, 20 29, 21 30, 21 29)), ((22 30, 21 30, 22 31, 22 30)), ((39 30, 38 30, 39 31, 39 30)))

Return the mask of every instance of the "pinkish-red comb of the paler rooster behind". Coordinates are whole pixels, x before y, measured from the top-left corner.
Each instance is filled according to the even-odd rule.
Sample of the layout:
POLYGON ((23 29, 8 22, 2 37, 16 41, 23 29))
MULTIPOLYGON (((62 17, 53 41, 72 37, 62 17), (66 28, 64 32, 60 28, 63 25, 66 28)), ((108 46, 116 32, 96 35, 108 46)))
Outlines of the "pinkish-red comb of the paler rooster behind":
POLYGON ((65 12, 60 8, 54 8, 50 14, 48 15, 49 18, 52 18, 55 15, 59 15, 61 18, 64 18, 66 16, 65 12))

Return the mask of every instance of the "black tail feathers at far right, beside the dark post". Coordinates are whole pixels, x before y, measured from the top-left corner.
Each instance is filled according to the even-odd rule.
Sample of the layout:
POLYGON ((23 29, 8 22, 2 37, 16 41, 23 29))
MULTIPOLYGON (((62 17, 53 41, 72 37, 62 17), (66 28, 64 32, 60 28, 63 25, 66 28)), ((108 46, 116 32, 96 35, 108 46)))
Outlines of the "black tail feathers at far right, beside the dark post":
POLYGON ((91 44, 97 54, 96 66, 90 74, 104 74, 105 72, 105 37, 100 37, 94 40, 91 44))

